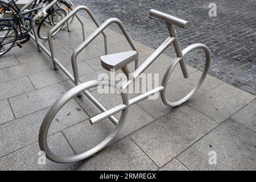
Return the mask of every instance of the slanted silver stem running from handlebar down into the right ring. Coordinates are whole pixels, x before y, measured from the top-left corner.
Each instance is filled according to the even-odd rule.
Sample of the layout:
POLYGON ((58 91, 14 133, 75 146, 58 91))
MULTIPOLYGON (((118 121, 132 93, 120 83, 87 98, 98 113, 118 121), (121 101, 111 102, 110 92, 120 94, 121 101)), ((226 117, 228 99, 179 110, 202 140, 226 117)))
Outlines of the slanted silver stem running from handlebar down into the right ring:
MULTIPOLYGON (((176 38, 174 41, 174 49, 175 49, 177 57, 183 57, 182 49, 180 47, 179 39, 177 38, 177 34, 176 34, 176 30, 175 30, 174 26, 170 23, 166 23, 166 26, 168 28, 170 36, 173 36, 176 38)), ((181 68, 184 78, 188 78, 188 70, 187 70, 187 66, 185 64, 184 58, 181 59, 179 63, 180 63, 180 68, 181 68)))

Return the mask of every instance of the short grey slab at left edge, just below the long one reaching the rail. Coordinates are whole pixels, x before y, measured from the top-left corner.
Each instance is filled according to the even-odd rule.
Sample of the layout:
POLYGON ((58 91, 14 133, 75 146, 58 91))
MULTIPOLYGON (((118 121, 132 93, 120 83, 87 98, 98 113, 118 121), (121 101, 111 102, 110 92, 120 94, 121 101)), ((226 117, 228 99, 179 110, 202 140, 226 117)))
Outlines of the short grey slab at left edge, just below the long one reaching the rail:
POLYGON ((0 100, 35 90, 28 77, 0 83, 0 100))

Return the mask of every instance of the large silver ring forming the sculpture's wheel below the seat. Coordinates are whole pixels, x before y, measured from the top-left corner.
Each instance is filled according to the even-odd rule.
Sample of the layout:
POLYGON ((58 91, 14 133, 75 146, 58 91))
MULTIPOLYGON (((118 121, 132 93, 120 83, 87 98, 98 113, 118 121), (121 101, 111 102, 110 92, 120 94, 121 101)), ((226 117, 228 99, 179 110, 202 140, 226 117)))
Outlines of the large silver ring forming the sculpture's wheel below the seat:
MULTIPOLYGON (((104 149, 104 147, 117 135, 119 130, 121 130, 123 123, 125 122, 125 119, 127 117, 128 107, 126 109, 122 110, 121 117, 119 118, 117 126, 113 128, 111 133, 100 143, 98 143, 93 148, 90 148, 89 150, 82 152, 81 154, 73 155, 73 156, 60 156, 57 154, 54 154, 48 147, 47 142, 47 134, 49 130, 49 126, 52 123, 52 120, 54 119, 55 115, 59 112, 59 110, 67 104, 69 100, 76 97, 77 94, 84 92, 84 90, 88 90, 89 88, 93 88, 95 86, 98 86, 101 83, 101 81, 98 80, 92 80, 88 82, 84 82, 80 85, 75 86, 75 88, 72 88, 67 93, 65 93, 62 97, 59 98, 53 104, 51 109, 49 109, 48 113, 46 114, 46 117, 44 117, 42 125, 39 130, 39 146, 40 150, 46 152, 46 157, 53 162, 57 163, 72 163, 72 162, 79 162, 80 160, 84 160, 88 158, 89 156, 92 156, 93 154, 96 154, 98 151, 104 149)), ((112 82, 111 86, 114 86, 115 82, 112 82)), ((128 104, 128 97, 125 93, 119 93, 122 96, 123 104, 128 104)), ((89 122, 89 121, 88 121, 89 122)))

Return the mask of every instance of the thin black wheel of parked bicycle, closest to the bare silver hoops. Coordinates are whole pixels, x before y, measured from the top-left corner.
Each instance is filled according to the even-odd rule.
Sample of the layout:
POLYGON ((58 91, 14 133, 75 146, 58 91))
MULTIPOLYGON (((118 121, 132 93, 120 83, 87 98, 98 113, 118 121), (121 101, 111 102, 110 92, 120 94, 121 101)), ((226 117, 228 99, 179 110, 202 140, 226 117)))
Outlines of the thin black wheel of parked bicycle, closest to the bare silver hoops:
MULTIPOLYGON (((38 37, 42 40, 47 40, 49 30, 51 30, 51 28, 57 24, 56 22, 59 22, 60 19, 63 19, 65 15, 66 15, 66 12, 63 9, 57 9, 57 10, 53 10, 46 17, 44 17, 38 26, 38 37), (48 22, 49 24, 52 24, 52 27, 46 26, 46 22, 48 22)), ((58 30, 54 32, 53 35, 56 35, 57 32, 61 30, 61 28, 62 27, 58 28, 58 30)))

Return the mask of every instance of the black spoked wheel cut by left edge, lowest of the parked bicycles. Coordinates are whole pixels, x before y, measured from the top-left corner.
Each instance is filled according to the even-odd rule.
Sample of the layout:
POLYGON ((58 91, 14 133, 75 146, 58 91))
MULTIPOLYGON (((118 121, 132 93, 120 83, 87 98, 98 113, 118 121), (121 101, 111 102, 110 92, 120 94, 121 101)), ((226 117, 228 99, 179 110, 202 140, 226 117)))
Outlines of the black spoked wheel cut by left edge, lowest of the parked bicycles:
POLYGON ((10 51, 18 39, 18 31, 11 24, 0 23, 0 56, 10 51))

